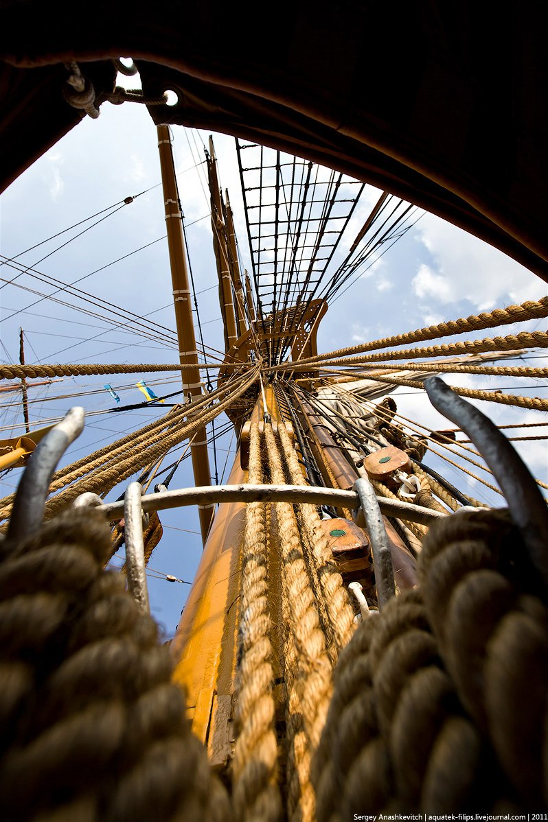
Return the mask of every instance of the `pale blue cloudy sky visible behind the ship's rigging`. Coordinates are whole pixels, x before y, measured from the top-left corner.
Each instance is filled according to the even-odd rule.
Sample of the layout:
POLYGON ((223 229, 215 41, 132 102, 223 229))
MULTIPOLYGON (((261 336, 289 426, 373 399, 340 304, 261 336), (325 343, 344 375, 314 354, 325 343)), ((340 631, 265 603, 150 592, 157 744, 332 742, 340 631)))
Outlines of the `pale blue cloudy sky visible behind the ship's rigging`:
MULTIPOLYGON (((221 349, 222 326, 211 245, 207 172, 203 164, 203 147, 207 145, 208 134, 181 127, 174 128, 173 134, 175 166, 188 226, 190 262, 198 292, 202 328, 206 343, 214 349, 221 349)), ((235 142, 233 138, 223 135, 214 136, 214 140, 222 186, 230 191, 240 253, 244 265, 250 268, 235 142)), ((15 256, 67 226, 123 201, 128 195, 150 189, 130 205, 124 205, 115 213, 113 209, 113 213, 100 224, 44 261, 40 260, 89 224, 82 224, 72 232, 35 248, 18 257, 18 261, 25 266, 36 266, 40 272, 66 283, 108 266, 86 277, 80 287, 109 301, 114 311, 110 316, 114 321, 119 321, 118 309, 124 308, 174 329, 168 252, 162 239, 165 222, 159 182, 156 127, 146 109, 137 104, 104 104, 98 120, 83 120, 4 192, 0 198, 0 252, 6 257, 15 256), (151 245, 140 252, 131 253, 147 243, 151 245), (125 259, 109 265, 120 257, 125 259)), ((356 215, 355 224, 351 227, 355 233, 360 228, 360 219, 363 222, 367 207, 377 199, 378 193, 375 189, 367 192, 363 209, 356 215)), ((93 222, 91 220, 90 224, 93 222)), ((3 279, 12 279, 17 274, 7 265, 0 266, 3 279)), ((31 278, 28 273, 20 275, 16 283, 0 282, 0 286, 4 285, 0 290, 4 346, 0 354, 2 362, 17 361, 20 326, 25 330, 26 359, 29 363, 177 361, 174 344, 143 339, 135 335, 132 324, 124 328, 107 326, 100 318, 86 316, 50 299, 42 299, 29 307, 31 302, 39 300, 39 296, 17 285, 44 293, 53 293, 53 287, 31 278)), ((425 215, 351 289, 330 305, 319 330, 318 349, 338 349, 366 339, 377 339, 444 319, 490 310, 510 302, 540 298, 546 293, 546 284, 522 266, 444 221, 425 215)), ((65 298, 63 293, 57 297, 65 298)), ((77 302, 73 298, 67 300, 77 302)), ((89 303, 78 304, 97 311, 89 303)), ((546 321, 533 321, 519 327, 506 326, 501 333, 510 334, 515 330, 534 327, 544 330, 546 321)), ((473 339, 486 335, 490 332, 468 336, 473 339)), ((531 364, 543 365, 546 361, 538 359, 531 364)), ((137 403, 142 399, 134 387, 139 379, 145 379, 156 394, 177 390, 180 385, 176 375, 146 373, 136 375, 134 379, 132 376, 65 378, 61 383, 32 390, 30 399, 40 401, 30 405, 30 418, 39 420, 63 415, 76 403, 71 399, 47 398, 75 391, 99 390, 99 393, 79 400, 86 411, 110 409, 114 406, 114 400, 101 390, 107 381, 118 391, 123 403, 137 403)), ((465 375, 451 375, 448 381, 453 385, 480 385, 478 378, 465 375)), ((508 378, 481 379, 481 387, 508 385, 508 378)), ((542 385, 536 380, 519 380, 516 381, 516 390, 522 394, 546 397, 546 382, 542 385)), ((397 395, 400 396, 398 407, 407 417, 420 419, 427 426, 447 427, 447 423, 431 409, 424 395, 403 388, 397 390, 397 395)), ((4 407, 7 395, 0 396, 0 425, 7 427, 0 436, 22 433, 21 428, 14 428, 12 433, 9 430, 9 426, 22 420, 21 405, 16 395, 12 398, 12 408, 4 407)), ((543 421, 541 413, 507 409, 492 403, 481 404, 481 409, 490 413, 499 424, 543 421)), ((64 462, 77 459, 86 450, 100 447, 106 441, 113 441, 121 432, 142 426, 161 413, 160 409, 139 409, 88 418, 85 432, 73 444, 64 462)), ((225 459, 228 459, 227 472, 230 470, 234 446, 234 440, 230 444, 230 436, 226 436, 217 450, 220 481, 225 459)), ((546 441, 522 443, 518 447, 536 476, 546 482, 546 441)), ((436 458, 432 457, 430 463, 436 467, 436 458)), ((481 487, 478 488, 479 483, 469 486, 462 474, 458 476, 455 473, 456 469, 444 470, 453 483, 474 496, 484 498, 481 487)), ((4 478, 2 493, 12 491, 18 473, 14 471, 4 478)), ((189 461, 184 462, 175 475, 172 487, 192 484, 189 461)), ((121 490, 114 489, 109 498, 115 498, 121 490)), ((486 493, 485 500, 493 501, 492 492, 486 493)), ((152 558, 151 567, 179 579, 192 580, 202 551, 201 539, 196 533, 195 512, 165 512, 161 520, 165 535, 152 558)), ((152 576, 149 585, 153 613, 165 626, 166 635, 172 635, 188 586, 152 576)))

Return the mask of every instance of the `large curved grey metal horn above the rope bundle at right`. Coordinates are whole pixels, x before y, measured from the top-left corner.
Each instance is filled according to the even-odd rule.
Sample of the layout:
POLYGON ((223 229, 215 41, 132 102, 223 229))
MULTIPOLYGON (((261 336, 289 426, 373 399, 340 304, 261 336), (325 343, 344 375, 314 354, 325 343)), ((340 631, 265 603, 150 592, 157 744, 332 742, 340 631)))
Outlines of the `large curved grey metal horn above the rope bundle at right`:
POLYGON ((467 433, 481 452, 504 493, 513 523, 522 532, 533 566, 548 585, 548 512, 527 466, 495 423, 439 376, 430 376, 424 385, 434 409, 467 433))

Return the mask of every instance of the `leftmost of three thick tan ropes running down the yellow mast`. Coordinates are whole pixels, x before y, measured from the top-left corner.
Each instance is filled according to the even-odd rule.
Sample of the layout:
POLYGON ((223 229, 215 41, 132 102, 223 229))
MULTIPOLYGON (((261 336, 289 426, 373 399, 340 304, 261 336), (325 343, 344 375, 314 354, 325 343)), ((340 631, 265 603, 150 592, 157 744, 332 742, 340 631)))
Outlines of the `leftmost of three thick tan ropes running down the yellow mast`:
MULTIPOLYGON (((248 481, 262 483, 257 423, 253 423, 250 432, 248 481)), ((232 764, 233 800, 241 822, 281 819, 267 568, 266 505, 251 502, 245 510, 239 667, 235 683, 238 736, 232 764)))

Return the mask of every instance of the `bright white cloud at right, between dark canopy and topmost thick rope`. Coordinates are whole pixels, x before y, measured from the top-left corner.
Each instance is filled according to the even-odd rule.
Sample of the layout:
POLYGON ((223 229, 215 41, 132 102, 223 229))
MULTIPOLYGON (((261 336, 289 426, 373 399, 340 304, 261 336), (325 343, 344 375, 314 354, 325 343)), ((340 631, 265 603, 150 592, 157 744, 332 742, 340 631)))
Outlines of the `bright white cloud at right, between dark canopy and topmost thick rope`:
POLYGON ((467 298, 477 311, 512 302, 537 299, 546 285, 530 271, 471 234, 443 219, 425 215, 417 238, 433 258, 413 279, 419 297, 441 303, 467 298))

